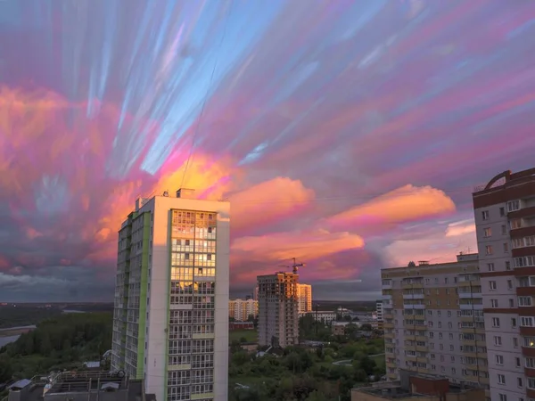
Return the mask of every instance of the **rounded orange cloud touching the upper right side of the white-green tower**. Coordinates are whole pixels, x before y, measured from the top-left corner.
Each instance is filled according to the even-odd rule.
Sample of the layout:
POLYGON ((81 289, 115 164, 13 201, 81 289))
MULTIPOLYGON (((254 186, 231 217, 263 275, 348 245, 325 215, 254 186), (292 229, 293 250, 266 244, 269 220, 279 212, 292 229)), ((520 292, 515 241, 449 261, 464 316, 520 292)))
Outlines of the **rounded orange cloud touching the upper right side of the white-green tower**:
POLYGON ((230 197, 232 228, 240 230, 265 225, 289 216, 307 208, 314 197, 314 191, 305 188, 299 180, 285 177, 251 186, 230 197))

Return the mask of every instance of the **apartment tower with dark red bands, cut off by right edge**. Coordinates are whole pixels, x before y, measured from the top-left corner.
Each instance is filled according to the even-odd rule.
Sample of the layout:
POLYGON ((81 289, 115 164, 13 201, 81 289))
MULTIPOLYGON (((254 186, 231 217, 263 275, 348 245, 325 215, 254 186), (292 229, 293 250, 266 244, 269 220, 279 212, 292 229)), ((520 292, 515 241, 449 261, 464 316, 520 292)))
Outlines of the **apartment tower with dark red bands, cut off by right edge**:
POLYGON ((492 401, 535 399, 535 168, 473 193, 492 401))

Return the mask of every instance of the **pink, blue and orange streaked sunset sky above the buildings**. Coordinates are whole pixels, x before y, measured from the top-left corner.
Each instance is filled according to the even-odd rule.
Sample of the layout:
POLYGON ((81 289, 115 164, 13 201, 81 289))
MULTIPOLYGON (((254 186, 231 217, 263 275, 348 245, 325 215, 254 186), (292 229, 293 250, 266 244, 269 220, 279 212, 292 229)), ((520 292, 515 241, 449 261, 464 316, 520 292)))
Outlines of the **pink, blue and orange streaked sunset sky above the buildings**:
POLYGON ((316 299, 476 250, 476 185, 535 160, 535 2, 0 1, 0 301, 111 301, 120 223, 231 201, 231 294, 316 299))

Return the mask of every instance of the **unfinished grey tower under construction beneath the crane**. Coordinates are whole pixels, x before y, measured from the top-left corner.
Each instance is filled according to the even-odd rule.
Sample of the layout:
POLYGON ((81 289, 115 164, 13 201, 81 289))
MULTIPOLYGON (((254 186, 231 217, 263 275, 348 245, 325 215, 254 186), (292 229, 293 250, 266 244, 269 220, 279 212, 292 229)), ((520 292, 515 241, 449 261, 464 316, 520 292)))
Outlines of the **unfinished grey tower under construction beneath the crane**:
POLYGON ((259 345, 299 344, 299 274, 259 275, 259 345))

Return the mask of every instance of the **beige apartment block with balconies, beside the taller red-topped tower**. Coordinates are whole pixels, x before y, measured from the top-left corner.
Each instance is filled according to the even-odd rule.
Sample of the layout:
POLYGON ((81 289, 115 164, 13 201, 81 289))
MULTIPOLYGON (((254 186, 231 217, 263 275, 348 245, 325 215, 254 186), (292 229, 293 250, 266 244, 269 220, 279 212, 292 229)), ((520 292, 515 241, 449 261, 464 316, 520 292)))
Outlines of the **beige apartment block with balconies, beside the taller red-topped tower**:
POLYGON ((387 268, 381 276, 387 378, 407 369, 488 388, 477 254, 387 268))

